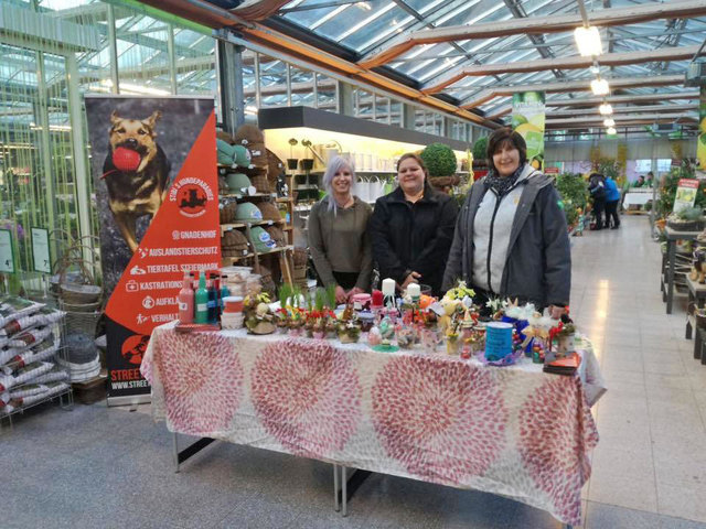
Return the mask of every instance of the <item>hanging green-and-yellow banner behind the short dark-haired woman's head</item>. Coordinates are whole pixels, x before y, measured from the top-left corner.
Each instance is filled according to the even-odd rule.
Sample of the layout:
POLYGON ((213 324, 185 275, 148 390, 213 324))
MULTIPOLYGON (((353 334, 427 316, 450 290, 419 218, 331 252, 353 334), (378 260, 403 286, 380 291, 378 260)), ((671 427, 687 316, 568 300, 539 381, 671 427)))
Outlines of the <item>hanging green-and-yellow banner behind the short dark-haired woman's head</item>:
POLYGON ((527 143, 527 162, 544 169, 544 91, 520 91, 512 96, 512 128, 527 143))

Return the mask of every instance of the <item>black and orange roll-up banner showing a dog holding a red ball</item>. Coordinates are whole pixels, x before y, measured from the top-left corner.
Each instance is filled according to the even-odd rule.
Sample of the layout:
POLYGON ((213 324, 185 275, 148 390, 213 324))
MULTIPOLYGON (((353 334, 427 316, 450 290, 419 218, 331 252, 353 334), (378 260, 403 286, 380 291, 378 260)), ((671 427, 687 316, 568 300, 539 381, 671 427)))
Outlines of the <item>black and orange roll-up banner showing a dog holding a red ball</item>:
POLYGON ((149 393, 152 328, 184 272, 221 267, 213 99, 86 96, 106 294, 108 402, 149 393), (117 399, 117 400, 116 400, 117 399))

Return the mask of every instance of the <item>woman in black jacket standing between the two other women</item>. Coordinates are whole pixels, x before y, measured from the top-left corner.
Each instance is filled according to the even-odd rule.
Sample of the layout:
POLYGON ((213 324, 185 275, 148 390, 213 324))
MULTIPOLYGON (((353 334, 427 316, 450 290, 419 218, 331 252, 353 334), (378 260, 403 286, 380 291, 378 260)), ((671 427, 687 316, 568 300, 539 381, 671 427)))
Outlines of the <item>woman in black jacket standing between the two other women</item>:
POLYGON ((417 154, 404 154, 397 162, 399 187, 377 199, 368 230, 381 278, 393 278, 403 291, 409 283, 428 284, 438 295, 458 205, 432 190, 428 176, 417 154))

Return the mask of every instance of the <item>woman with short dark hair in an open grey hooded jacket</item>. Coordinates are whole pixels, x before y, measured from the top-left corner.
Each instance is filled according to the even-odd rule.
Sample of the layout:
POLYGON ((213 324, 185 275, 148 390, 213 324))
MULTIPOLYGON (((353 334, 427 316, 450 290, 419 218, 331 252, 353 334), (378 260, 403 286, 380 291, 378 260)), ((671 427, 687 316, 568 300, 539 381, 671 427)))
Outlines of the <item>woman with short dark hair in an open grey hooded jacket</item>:
POLYGON ((463 279, 479 301, 517 298, 559 317, 571 287, 566 218, 552 179, 527 163, 526 152, 517 132, 491 134, 490 172, 473 184, 459 214, 443 288, 463 279))

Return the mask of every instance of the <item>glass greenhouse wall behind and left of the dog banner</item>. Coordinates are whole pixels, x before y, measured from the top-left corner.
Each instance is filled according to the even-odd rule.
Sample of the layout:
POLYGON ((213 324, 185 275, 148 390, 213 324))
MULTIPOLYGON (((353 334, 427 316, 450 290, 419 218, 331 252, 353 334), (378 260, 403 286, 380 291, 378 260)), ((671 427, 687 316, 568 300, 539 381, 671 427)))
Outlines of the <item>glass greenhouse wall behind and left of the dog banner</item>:
POLYGON ((61 24, 63 39, 52 42, 26 24, 20 37, 0 36, 0 225, 12 229, 17 268, 28 272, 30 227, 51 230, 53 260, 72 239, 92 245, 98 231, 92 179, 76 170, 87 168, 89 156, 75 149, 76 139, 86 138, 81 94, 215 97, 217 77, 215 40, 191 22, 90 0, 15 0, 12 7, 61 24))

